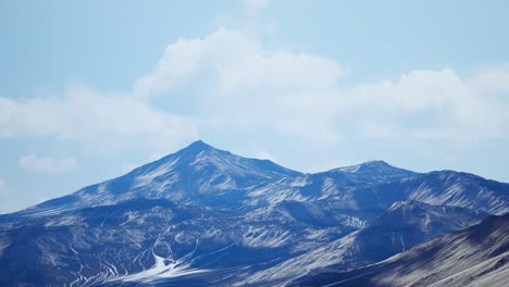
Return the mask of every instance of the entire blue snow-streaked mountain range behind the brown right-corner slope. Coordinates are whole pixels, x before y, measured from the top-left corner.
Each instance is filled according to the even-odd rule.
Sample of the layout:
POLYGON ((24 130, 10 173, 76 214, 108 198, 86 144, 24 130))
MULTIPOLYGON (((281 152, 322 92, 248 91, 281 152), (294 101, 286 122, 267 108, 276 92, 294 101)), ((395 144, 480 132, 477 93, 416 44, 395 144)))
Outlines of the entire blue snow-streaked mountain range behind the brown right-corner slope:
MULTIPOLYGON (((0 286, 320 286, 373 263, 368 272, 382 274, 423 242, 452 250, 444 240, 455 232, 508 211, 509 184, 472 174, 415 173, 383 161, 305 174, 197 141, 0 215, 0 286)), ((424 255, 413 258, 419 265, 424 255)), ((406 272, 415 280, 432 276, 412 266, 406 272)))

